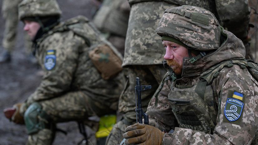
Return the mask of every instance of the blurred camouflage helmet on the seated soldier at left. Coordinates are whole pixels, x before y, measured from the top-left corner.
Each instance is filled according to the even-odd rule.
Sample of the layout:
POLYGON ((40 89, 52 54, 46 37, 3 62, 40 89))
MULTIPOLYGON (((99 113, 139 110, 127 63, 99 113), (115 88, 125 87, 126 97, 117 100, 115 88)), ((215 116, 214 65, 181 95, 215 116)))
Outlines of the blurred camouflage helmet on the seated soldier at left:
POLYGON ((18 11, 20 20, 25 17, 60 16, 62 13, 56 0, 23 0, 18 11))

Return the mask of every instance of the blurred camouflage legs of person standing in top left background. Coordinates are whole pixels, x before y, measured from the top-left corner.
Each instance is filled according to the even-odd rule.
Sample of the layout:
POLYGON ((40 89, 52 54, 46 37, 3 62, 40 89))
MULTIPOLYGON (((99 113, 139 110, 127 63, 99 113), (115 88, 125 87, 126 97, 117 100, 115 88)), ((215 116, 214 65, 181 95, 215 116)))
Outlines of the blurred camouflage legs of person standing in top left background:
MULTIPOLYGON (((0 57, 0 62, 10 62, 11 54, 15 47, 16 34, 17 34, 17 25, 18 25, 18 4, 22 0, 3 0, 2 2, 2 16, 5 19, 5 29, 2 40, 2 46, 4 51, 0 57)), ((32 42, 28 38, 28 35, 25 33, 25 48, 27 54, 32 53, 32 42)))

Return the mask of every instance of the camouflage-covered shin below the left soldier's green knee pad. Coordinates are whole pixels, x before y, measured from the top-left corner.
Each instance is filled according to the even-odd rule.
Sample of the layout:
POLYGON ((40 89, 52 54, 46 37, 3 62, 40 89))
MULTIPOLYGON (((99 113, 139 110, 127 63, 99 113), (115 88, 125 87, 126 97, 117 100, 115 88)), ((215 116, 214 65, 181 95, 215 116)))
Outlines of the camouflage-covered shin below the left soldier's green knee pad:
POLYGON ((53 132, 50 129, 42 129, 29 135, 26 145, 51 145, 53 141, 53 132))

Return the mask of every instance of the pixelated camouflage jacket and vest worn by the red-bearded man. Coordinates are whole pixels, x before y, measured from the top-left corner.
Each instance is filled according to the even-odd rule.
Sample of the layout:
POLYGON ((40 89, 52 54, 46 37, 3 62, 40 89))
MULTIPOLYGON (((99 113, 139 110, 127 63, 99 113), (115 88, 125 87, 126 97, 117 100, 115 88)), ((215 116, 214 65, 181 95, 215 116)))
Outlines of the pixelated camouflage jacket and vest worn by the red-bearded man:
POLYGON ((223 67, 209 82, 202 78, 218 63, 240 61, 245 56, 239 39, 224 32, 227 39, 217 51, 194 63, 185 57, 182 78, 173 82, 168 72, 162 89, 151 99, 146 113, 150 124, 168 132, 163 145, 257 143, 258 82, 243 66, 246 61, 223 67), (198 87, 200 82, 205 84, 198 87), (204 90, 203 96, 200 90, 204 90), (169 132, 171 129, 174 133, 169 132))

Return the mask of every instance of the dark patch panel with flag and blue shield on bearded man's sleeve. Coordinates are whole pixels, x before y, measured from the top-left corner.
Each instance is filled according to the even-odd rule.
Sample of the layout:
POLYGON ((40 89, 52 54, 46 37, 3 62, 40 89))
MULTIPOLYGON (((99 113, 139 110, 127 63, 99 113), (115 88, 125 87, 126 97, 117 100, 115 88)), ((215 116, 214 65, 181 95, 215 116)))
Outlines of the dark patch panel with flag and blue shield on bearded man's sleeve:
POLYGON ((242 121, 242 110, 244 107, 244 103, 240 100, 244 100, 244 94, 238 93, 233 90, 229 90, 228 98, 226 101, 226 106, 224 109, 224 118, 223 122, 234 123, 236 125, 240 125, 242 121), (236 98, 236 99, 235 99, 236 98), (240 118, 240 119, 239 119, 240 118))

